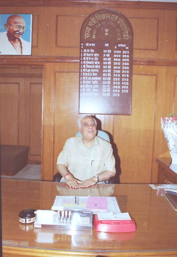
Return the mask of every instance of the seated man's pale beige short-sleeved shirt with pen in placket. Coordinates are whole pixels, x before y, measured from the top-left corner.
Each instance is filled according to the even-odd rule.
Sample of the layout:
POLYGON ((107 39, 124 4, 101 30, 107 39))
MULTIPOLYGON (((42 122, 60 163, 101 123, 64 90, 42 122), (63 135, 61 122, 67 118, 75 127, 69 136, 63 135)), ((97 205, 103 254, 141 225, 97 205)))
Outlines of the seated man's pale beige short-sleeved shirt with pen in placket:
MULTIPOLYGON (((64 164, 68 171, 81 181, 106 170, 116 172, 112 146, 98 136, 89 148, 83 143, 82 136, 67 139, 58 156, 57 164, 64 164)), ((62 178, 60 181, 65 180, 62 178)))

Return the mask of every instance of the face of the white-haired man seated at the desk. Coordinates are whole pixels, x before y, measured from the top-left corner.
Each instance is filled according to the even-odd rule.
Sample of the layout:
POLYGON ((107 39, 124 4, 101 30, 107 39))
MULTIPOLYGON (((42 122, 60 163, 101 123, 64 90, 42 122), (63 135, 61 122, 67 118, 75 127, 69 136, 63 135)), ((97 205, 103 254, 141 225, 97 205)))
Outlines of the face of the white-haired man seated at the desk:
POLYGON ((96 136, 96 125, 92 118, 85 117, 81 121, 81 128, 79 128, 82 136, 86 140, 92 140, 96 136))

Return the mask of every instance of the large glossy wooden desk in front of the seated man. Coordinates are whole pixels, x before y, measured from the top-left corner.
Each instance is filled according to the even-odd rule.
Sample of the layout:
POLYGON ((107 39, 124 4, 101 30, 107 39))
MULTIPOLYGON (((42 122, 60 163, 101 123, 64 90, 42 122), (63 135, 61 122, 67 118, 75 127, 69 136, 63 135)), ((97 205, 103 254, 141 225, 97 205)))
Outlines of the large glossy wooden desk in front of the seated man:
POLYGON ((177 212, 146 184, 99 184, 67 189, 65 183, 2 179, 3 257, 14 256, 177 256, 177 212), (51 209, 55 195, 116 196, 135 233, 58 231, 18 221, 24 209, 51 209))

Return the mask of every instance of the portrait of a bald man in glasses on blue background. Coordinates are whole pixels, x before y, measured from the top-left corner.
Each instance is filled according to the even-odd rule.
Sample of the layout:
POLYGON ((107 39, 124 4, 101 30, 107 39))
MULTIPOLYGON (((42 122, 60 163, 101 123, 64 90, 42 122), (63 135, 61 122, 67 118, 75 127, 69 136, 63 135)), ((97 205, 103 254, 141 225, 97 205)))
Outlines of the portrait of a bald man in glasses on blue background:
POLYGON ((32 14, 0 14, 0 55, 31 55, 32 14))

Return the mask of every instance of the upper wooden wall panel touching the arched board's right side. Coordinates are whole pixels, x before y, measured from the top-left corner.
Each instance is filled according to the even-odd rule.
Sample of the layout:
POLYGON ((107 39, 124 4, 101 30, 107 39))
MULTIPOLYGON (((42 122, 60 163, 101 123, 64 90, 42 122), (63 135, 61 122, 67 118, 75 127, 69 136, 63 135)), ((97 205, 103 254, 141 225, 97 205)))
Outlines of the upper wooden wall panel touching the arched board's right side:
POLYGON ((134 58, 165 59, 167 56, 167 12, 165 10, 122 10, 132 23, 134 58))

